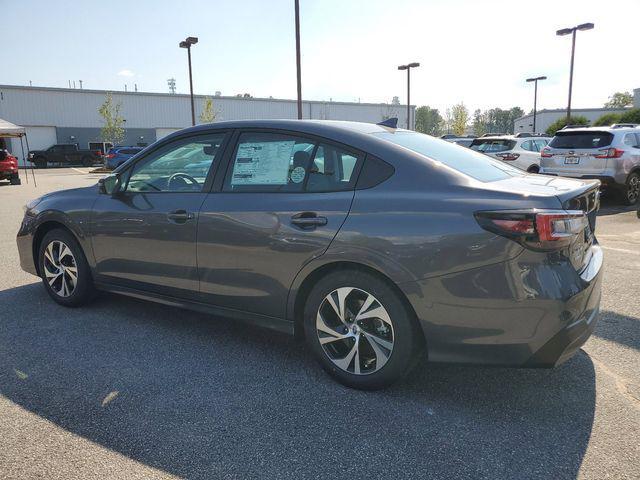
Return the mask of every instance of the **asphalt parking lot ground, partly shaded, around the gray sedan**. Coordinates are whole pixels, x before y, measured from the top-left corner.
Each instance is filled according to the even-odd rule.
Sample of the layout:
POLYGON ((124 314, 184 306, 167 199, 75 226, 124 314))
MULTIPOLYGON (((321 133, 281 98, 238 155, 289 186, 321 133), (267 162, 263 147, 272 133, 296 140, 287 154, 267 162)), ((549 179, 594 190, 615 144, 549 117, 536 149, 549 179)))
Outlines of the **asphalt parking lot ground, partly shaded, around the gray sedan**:
POLYGON ((379 392, 278 333, 20 270, 22 205, 87 169, 0 183, 0 478, 640 478, 640 220, 604 202, 595 334, 552 370, 421 362, 379 392), (24 180, 23 180, 24 182, 24 180))

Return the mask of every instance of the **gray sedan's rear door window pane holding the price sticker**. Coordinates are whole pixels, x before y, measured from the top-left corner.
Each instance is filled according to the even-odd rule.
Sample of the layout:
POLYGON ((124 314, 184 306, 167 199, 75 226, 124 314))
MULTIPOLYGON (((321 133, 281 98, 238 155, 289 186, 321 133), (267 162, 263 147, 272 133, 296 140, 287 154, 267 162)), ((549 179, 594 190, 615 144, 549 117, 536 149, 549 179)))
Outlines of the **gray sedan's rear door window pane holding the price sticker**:
POLYGON ((280 133, 243 133, 225 181, 226 191, 300 192, 315 143, 280 133))

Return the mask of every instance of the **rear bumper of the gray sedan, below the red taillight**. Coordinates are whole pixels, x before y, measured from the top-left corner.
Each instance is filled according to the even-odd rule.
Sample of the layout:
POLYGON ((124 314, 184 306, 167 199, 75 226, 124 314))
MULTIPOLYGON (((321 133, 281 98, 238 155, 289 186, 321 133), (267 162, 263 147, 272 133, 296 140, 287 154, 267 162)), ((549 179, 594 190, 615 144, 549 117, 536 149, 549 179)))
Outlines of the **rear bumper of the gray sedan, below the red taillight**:
POLYGON ((437 362, 552 367, 589 338, 600 305, 602 250, 578 273, 525 251, 509 262, 400 287, 437 362))

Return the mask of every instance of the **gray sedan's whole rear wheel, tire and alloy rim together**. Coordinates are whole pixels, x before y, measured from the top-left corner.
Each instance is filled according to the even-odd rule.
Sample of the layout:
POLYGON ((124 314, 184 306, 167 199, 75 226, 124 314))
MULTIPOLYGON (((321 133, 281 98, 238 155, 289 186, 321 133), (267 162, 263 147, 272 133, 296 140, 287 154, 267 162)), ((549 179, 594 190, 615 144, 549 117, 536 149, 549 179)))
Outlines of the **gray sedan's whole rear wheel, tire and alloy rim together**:
POLYGON ((324 370, 343 385, 362 390, 384 388, 402 378, 424 344, 417 320, 399 294, 377 276, 357 270, 330 273, 313 287, 305 303, 304 330, 324 370), (334 305, 346 312, 346 322, 334 305), (365 316, 358 320, 362 307, 365 316), (374 311, 378 315, 371 315, 374 311))

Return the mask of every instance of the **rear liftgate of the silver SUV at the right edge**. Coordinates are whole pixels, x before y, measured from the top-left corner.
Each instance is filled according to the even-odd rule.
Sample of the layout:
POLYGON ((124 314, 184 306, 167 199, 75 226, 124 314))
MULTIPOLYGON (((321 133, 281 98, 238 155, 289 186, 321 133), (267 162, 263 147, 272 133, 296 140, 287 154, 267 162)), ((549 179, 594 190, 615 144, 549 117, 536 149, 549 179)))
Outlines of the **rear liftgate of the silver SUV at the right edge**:
POLYGON ((545 170, 566 175, 600 175, 607 168, 606 150, 613 142, 607 131, 566 130, 549 143, 545 170))

